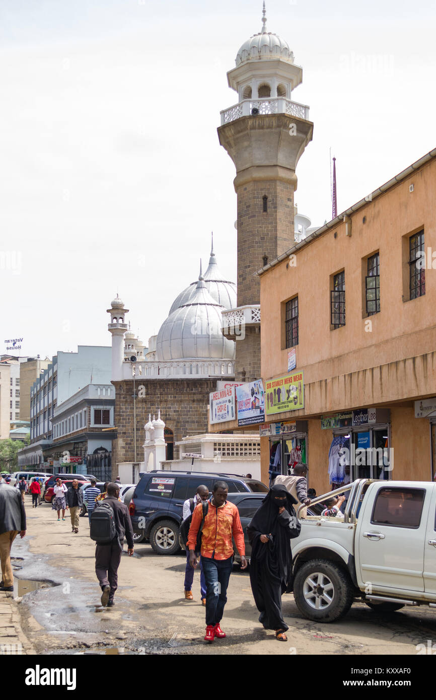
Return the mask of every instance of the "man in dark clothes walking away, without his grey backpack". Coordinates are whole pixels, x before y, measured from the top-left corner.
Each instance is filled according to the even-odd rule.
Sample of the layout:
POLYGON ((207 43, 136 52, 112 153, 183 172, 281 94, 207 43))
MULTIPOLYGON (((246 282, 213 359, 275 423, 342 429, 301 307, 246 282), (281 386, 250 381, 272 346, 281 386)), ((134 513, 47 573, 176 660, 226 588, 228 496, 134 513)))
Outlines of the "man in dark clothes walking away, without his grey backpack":
MULTIPOLYGON (((113 596, 118 587, 118 567, 120 566, 124 538, 127 539, 127 554, 133 555, 133 528, 127 505, 121 503, 118 496, 120 487, 118 484, 107 485, 107 496, 104 501, 113 509, 113 521, 115 522, 115 538, 108 544, 101 545, 97 542, 95 547, 95 573, 101 587, 101 605, 111 608, 113 596)), ((94 510, 99 510, 105 505, 97 505, 94 510)), ((92 530, 92 524, 91 524, 92 530)))

